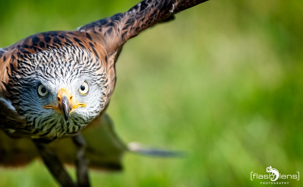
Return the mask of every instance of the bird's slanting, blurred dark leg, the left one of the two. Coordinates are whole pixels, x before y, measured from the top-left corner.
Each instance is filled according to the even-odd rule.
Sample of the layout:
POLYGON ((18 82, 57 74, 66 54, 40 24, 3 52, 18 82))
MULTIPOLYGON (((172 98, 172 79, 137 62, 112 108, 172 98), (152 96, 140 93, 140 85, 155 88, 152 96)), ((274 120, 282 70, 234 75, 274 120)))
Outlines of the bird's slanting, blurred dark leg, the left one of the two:
POLYGON ((41 139, 33 141, 38 148, 45 165, 48 167, 49 171, 60 183, 60 185, 63 187, 76 186, 72 178, 66 172, 58 156, 47 148, 47 143, 43 142, 41 139))

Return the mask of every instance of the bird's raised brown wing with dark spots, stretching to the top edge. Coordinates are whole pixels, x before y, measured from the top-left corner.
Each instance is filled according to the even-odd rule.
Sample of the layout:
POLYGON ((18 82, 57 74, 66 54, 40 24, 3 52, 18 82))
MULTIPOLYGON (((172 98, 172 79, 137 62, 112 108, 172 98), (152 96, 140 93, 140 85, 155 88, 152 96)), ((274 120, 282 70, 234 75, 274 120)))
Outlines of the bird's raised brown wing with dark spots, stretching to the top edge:
POLYGON ((144 29, 205 1, 207 0, 145 0, 124 13, 94 21, 78 30, 105 38, 107 53, 110 55, 144 29))

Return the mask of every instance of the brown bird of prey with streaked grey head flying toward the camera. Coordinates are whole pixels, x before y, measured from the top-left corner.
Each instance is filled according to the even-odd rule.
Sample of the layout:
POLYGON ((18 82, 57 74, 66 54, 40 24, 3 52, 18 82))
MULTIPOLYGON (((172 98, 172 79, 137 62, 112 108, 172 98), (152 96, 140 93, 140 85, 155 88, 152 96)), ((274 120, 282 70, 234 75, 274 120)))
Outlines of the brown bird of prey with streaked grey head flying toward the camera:
POLYGON ((27 139, 34 143, 60 185, 88 186, 86 157, 102 165, 96 159, 97 153, 89 155, 95 149, 90 145, 94 141, 85 139, 89 139, 89 132, 98 132, 89 129, 99 125, 101 132, 107 132, 101 136, 109 136, 114 146, 122 147, 120 150, 128 149, 114 136, 109 119, 104 117, 115 87, 115 63, 123 44, 144 29, 205 1, 145 0, 124 13, 94 21, 76 31, 34 34, 0 48, 2 164, 22 164, 22 160, 35 157, 37 151, 31 150, 35 148, 24 150, 28 159, 24 159, 24 154, 8 156, 9 148, 3 148, 10 145, 22 149, 19 140, 27 139), (103 123, 109 125, 100 125, 103 123), (62 159, 69 155, 69 150, 56 149, 63 138, 75 145, 77 184, 61 161, 69 162, 68 157, 62 159))

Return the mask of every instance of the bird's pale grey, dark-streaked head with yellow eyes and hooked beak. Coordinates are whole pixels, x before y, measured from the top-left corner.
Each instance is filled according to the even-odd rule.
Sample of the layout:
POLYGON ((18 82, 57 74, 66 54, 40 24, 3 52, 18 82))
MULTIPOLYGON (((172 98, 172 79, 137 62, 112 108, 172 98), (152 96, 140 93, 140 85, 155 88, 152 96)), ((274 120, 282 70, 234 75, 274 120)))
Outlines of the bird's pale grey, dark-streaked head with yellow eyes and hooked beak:
POLYGON ((66 46, 29 54, 13 74, 11 100, 46 139, 78 132, 106 103, 106 70, 91 52, 66 46))

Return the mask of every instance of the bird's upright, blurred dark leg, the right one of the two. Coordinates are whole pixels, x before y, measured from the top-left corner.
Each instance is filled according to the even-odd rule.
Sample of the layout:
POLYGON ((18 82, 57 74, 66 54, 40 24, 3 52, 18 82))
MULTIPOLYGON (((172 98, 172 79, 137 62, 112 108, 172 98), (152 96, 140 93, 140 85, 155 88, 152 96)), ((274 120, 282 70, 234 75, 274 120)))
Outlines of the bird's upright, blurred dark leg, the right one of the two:
POLYGON ((86 141, 82 134, 78 134, 72 137, 76 144, 76 168, 78 186, 90 186, 88 177, 88 160, 85 158, 86 141))

